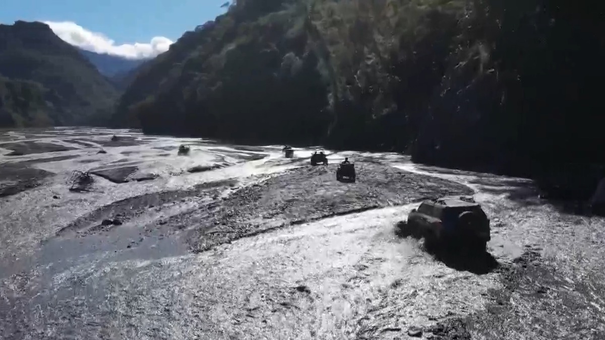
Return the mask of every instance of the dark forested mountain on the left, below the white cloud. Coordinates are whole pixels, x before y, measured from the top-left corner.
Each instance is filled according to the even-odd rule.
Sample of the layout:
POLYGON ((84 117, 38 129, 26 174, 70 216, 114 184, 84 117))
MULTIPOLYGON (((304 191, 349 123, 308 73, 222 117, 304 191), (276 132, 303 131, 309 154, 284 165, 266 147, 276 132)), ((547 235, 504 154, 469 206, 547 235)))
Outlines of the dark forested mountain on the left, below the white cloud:
POLYGON ((118 96, 76 47, 41 22, 0 25, 0 76, 10 97, 4 110, 17 126, 100 123, 118 96), (30 100, 28 93, 36 98, 31 106, 18 104, 30 100))

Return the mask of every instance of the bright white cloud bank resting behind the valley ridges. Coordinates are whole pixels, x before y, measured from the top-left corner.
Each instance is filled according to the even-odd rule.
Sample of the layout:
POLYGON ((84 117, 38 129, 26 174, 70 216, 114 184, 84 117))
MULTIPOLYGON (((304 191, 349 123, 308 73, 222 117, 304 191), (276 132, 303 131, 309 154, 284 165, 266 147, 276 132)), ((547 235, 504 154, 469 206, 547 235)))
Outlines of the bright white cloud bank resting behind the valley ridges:
POLYGON ((82 48, 83 50, 96 53, 113 54, 128 59, 143 59, 155 57, 160 53, 168 51, 172 41, 168 38, 157 36, 151 38, 149 43, 135 42, 134 44, 116 45, 116 42, 106 37, 102 33, 96 33, 83 28, 71 21, 53 22, 45 21, 57 34, 59 38, 71 45, 82 48))

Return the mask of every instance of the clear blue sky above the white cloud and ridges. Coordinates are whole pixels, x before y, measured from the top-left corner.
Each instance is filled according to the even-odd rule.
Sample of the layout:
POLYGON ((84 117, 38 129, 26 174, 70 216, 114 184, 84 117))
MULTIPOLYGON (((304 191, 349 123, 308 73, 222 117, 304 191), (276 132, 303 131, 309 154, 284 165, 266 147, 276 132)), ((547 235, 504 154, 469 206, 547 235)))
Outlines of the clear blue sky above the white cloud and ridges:
MULTIPOLYGON (((149 44, 154 37, 176 41, 185 31, 224 13, 220 6, 225 1, 0 0, 0 22, 73 22, 84 30, 102 33, 115 45, 149 44)), ((53 30, 57 33, 54 27, 53 30)), ((66 32, 64 36, 57 35, 68 36, 66 32)))

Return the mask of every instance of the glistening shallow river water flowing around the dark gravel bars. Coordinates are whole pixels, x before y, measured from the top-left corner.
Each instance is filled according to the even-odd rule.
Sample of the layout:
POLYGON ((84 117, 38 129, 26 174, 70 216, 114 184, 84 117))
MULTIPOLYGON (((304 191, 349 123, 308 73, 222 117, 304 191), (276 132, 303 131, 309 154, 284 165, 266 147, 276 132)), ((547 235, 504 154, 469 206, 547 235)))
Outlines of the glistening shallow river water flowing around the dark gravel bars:
MULTIPOLYGON (((499 272, 453 269, 427 255, 418 241, 395 237, 393 224, 406 218, 414 204, 276 229, 195 255, 162 227, 143 235, 141 226, 149 221, 194 211, 215 199, 215 194, 201 192, 184 200, 159 200, 100 235, 57 238, 61 227, 107 204, 228 178, 237 180, 237 186, 257 183, 301 166, 310 151, 296 149, 298 158, 287 160, 279 146, 249 149, 125 130, 53 129, 5 132, 0 154, 10 152, 2 149, 3 143, 15 142, 73 149, 0 156, 0 164, 32 162, 27 166, 55 174, 41 186, 0 198, 2 339, 405 339, 410 327, 483 313, 492 292, 506 289, 499 272), (108 139, 113 134, 124 141, 112 145, 108 139), (181 143, 191 145, 188 157, 176 154, 181 143), (99 149, 107 153, 97 154, 99 149), (61 156, 65 159, 34 162, 61 156), (121 184, 97 178, 91 192, 67 190, 74 169, 125 163, 157 178, 121 184), (217 163, 224 168, 187 172, 217 163)), ((396 154, 329 155, 330 162, 344 157, 473 188, 492 218, 489 252, 495 259, 509 264, 528 247, 537 250, 556 264, 557 275, 571 282, 565 281, 566 288, 553 286, 555 292, 590 278, 589 285, 575 292, 588 298, 585 315, 575 318, 592 329, 599 321, 605 324, 598 313, 605 310, 599 283, 605 272, 603 220, 562 215, 537 200, 531 183, 517 178, 417 166, 396 154)), ((221 195, 233 189, 221 188, 221 195)), ((513 299, 518 315, 531 314, 531 299, 513 299)), ((552 334, 577 332, 553 324, 545 312, 534 313, 543 321, 524 317, 529 325, 523 327, 501 322, 499 333, 477 322, 473 335, 552 339, 558 338, 552 334), (537 326, 532 328, 532 322, 537 326), (540 332, 543 325, 563 333, 540 332)), ((581 338, 598 339, 596 333, 583 334, 581 338)))

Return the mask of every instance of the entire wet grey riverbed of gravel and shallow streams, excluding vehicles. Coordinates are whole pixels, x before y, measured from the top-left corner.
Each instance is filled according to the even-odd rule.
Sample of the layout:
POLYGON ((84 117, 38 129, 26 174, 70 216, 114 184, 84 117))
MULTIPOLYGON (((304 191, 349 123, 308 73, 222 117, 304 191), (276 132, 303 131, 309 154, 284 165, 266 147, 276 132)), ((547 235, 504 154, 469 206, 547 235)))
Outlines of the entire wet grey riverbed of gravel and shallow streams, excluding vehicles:
POLYGON ((281 146, 120 130, 2 132, 7 143, 68 150, 0 158, 0 188, 38 183, 0 197, 0 339, 605 338, 604 220, 558 211, 527 180, 396 154, 328 151, 331 165, 312 167, 309 149, 284 159, 281 146), (356 183, 336 181, 344 157, 356 183), (68 191, 74 169, 110 164, 152 176, 68 191), (394 234, 442 195, 482 204, 494 266, 394 234))

